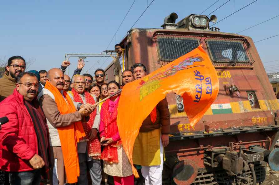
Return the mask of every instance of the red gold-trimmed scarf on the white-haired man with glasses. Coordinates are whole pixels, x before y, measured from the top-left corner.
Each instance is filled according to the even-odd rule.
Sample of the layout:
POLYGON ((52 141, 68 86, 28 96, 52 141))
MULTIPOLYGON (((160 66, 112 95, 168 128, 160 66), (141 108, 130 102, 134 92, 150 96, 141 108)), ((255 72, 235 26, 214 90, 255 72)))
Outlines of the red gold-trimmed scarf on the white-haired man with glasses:
MULTIPOLYGON (((80 102, 80 103, 84 104, 84 102, 83 102, 82 98, 80 97, 79 93, 76 92, 76 90, 74 88, 72 88, 72 91, 70 91, 70 93, 73 94, 75 102, 80 102)), ((95 104, 94 98, 92 97, 92 95, 89 92, 85 91, 84 96, 85 96, 86 103, 90 103, 91 105, 95 104)), ((83 129, 84 129, 85 134, 86 134, 86 136, 84 137, 84 140, 88 141, 87 152, 88 152, 89 157, 92 157, 92 159, 100 159, 100 156, 101 156, 101 145, 100 145, 100 141, 99 141, 98 137, 96 136, 92 140, 89 140, 88 137, 87 137, 87 135, 89 135, 90 130, 92 129, 92 126, 94 124, 94 119, 96 117, 96 113, 97 113, 97 110, 95 109, 90 114, 89 121, 86 122, 86 123, 82 123, 83 129)))

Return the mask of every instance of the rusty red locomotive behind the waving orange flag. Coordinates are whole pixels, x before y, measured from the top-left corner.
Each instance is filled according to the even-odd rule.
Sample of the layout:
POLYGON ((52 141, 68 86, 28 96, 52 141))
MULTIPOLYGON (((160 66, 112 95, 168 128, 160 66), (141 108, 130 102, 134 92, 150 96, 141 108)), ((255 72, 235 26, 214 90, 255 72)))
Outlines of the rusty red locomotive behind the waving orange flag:
MULTIPOLYGON (((163 184, 261 184, 267 163, 279 170, 279 104, 253 40, 210 29, 214 16, 176 18, 166 17, 163 29, 131 29, 121 41, 125 69, 142 63, 147 73, 202 44, 219 78, 218 97, 194 128, 177 95, 167 94, 171 135, 163 184)), ((114 69, 113 62, 107 66, 106 81, 114 80, 114 69)))

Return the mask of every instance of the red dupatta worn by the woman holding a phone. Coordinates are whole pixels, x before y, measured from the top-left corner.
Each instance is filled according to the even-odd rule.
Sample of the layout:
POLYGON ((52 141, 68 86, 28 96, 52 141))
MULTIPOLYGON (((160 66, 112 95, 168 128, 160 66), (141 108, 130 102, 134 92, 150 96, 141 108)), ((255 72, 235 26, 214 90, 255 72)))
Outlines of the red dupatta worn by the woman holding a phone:
MULTIPOLYGON (((118 132, 116 123, 118 102, 119 97, 114 102, 108 99, 102 105, 101 120, 104 123, 104 132, 106 138, 110 138, 118 132)), ((105 146, 101 154, 101 159, 109 162, 110 164, 118 163, 117 147, 120 145, 122 145, 121 140, 105 146)))

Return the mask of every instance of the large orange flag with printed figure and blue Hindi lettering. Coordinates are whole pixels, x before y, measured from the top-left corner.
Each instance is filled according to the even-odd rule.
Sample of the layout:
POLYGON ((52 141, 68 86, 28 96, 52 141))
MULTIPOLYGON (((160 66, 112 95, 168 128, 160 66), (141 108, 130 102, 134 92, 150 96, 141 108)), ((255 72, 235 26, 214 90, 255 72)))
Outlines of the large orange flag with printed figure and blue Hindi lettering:
POLYGON ((200 45, 195 50, 153 71, 143 79, 124 85, 118 106, 117 126, 123 148, 132 164, 133 146, 145 118, 169 92, 183 97, 192 127, 216 99, 219 80, 214 66, 200 45))

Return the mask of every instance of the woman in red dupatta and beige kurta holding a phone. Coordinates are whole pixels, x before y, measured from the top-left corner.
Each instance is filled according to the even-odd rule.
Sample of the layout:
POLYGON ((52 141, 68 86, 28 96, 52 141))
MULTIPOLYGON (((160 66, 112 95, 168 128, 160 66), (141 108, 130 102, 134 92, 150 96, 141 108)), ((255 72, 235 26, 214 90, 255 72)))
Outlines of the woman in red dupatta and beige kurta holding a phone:
MULTIPOLYGON (((109 96, 119 89, 120 86, 117 82, 108 83, 109 96)), ((132 167, 122 147, 116 123, 119 98, 119 94, 110 97, 101 108, 99 132, 101 144, 104 146, 101 159, 104 160, 104 173, 113 176, 115 185, 133 185, 132 167)))

